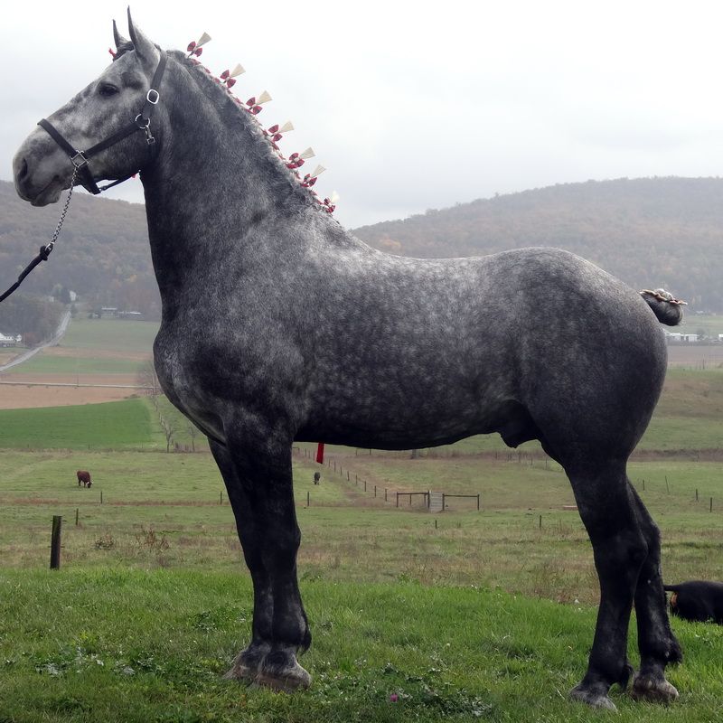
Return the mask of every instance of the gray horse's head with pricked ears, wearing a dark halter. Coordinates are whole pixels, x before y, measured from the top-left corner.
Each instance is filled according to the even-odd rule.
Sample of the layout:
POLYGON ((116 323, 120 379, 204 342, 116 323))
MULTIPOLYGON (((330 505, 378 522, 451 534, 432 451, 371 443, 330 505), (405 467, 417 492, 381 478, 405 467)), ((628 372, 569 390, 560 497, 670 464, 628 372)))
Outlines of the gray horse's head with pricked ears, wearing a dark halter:
MULTIPOLYGON (((128 28, 130 40, 113 23, 114 61, 75 98, 43 119, 45 125, 35 128, 15 154, 15 189, 33 206, 58 201, 61 192, 76 183, 99 192, 96 181, 127 178, 152 159, 149 147, 155 138, 144 111, 155 108, 158 100, 149 89, 164 53, 134 26, 130 10, 128 28), (104 140, 113 142, 105 146, 104 140), (103 147, 96 148, 99 145, 103 147), (73 150, 85 155, 73 155, 73 150)), ((161 125, 162 106, 156 109, 154 127, 161 125)))

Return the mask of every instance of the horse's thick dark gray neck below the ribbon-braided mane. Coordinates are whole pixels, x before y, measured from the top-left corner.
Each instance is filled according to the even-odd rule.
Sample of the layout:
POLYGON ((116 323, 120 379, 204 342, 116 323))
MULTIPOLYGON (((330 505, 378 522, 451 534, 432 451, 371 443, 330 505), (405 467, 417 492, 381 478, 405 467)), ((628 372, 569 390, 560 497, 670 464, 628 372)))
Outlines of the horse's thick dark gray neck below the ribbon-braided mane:
MULTIPOLYGON (((242 267, 244 239, 259 223, 282 227, 299 206, 311 210, 253 117, 230 107, 221 88, 199 77, 202 70, 169 61, 166 73, 169 115, 161 150, 141 174, 164 305, 213 268, 242 267)), ((267 236, 278 244, 286 239, 267 236)))

